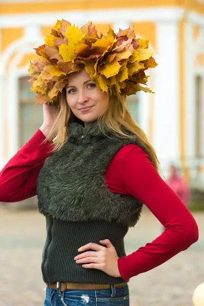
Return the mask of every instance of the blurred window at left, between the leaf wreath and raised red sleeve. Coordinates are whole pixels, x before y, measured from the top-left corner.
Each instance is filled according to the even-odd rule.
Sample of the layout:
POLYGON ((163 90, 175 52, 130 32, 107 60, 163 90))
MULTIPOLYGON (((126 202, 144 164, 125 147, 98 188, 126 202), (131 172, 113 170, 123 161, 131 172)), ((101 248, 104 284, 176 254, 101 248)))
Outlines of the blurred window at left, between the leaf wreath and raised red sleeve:
POLYGON ((35 105, 35 92, 30 90, 29 77, 18 79, 19 148, 39 129, 43 122, 42 105, 35 105))

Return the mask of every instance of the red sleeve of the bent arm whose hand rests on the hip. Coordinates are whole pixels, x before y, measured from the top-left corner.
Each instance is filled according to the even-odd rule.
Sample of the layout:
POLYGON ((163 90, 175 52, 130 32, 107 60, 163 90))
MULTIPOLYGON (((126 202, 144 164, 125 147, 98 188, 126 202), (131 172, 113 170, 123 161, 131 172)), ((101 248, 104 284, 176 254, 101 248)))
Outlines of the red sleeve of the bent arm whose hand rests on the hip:
POLYGON ((123 279, 161 265, 197 241, 198 228, 193 216, 139 146, 131 144, 118 151, 107 169, 106 179, 111 191, 116 190, 117 182, 120 184, 117 190, 142 201, 166 227, 154 241, 118 259, 123 279))

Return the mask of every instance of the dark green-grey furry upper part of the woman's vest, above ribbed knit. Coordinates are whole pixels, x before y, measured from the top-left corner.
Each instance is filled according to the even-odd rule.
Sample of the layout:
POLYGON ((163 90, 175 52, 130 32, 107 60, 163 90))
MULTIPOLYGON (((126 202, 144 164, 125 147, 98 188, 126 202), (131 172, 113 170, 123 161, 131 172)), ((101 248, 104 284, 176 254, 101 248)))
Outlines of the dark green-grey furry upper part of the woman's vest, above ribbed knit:
POLYGON ((45 161, 37 181, 39 211, 65 221, 105 220, 134 226, 142 203, 115 194, 106 186, 106 169, 117 151, 131 139, 105 136, 97 122, 71 123, 69 139, 45 161))

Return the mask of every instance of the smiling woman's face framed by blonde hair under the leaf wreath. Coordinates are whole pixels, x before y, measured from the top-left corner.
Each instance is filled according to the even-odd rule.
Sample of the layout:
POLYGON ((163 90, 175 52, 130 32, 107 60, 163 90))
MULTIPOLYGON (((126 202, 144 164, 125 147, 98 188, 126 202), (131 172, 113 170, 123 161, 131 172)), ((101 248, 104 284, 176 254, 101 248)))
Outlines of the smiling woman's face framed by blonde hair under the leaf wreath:
POLYGON ((66 86, 67 103, 73 114, 87 125, 108 108, 110 95, 96 87, 85 69, 70 73, 66 86))

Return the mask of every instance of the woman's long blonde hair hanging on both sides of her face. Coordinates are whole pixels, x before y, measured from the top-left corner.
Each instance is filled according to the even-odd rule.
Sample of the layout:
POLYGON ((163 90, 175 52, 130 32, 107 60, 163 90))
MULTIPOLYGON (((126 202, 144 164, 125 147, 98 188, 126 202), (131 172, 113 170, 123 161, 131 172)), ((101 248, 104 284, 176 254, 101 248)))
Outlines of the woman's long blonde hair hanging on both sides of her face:
MULTIPOLYGON (((69 125, 69 122, 81 121, 80 119, 74 116, 71 109, 69 108, 66 100, 65 90, 63 90, 62 93, 59 93, 58 105, 60 107, 59 114, 57 116, 55 124, 52 127, 52 130, 47 136, 48 140, 52 140, 54 131, 57 131, 57 136, 53 141, 55 145, 54 150, 59 149, 67 140, 68 137, 66 134, 66 127, 69 125)), ((116 96, 110 96, 109 107, 107 108, 105 113, 98 118, 98 125, 100 130, 105 135, 107 129, 112 131, 115 135, 119 137, 132 138, 133 135, 130 134, 134 134, 141 143, 141 145, 145 148, 146 153, 148 154, 151 162, 154 164, 156 170, 159 172, 159 160, 157 158, 155 149, 148 141, 148 138, 144 131, 138 126, 138 124, 131 116, 131 112, 127 106, 125 97, 121 96, 120 98, 118 98, 116 96)))

